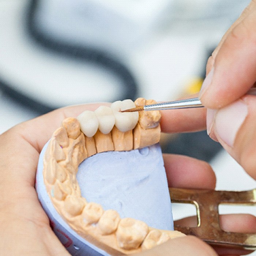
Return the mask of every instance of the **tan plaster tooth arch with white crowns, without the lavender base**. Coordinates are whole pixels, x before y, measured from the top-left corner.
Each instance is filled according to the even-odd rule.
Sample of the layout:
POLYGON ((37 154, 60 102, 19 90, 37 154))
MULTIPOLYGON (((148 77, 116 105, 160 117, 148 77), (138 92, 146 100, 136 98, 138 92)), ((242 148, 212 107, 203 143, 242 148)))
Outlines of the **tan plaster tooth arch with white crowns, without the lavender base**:
POLYGON ((143 98, 135 102, 127 99, 112 103, 110 108, 100 106, 94 112, 86 110, 77 118, 66 118, 44 154, 43 177, 51 203, 79 236, 109 255, 136 253, 185 236, 149 227, 137 219, 121 218, 116 210, 87 202, 76 180, 80 163, 95 154, 142 149, 159 142, 159 111, 120 112, 152 103, 143 98))

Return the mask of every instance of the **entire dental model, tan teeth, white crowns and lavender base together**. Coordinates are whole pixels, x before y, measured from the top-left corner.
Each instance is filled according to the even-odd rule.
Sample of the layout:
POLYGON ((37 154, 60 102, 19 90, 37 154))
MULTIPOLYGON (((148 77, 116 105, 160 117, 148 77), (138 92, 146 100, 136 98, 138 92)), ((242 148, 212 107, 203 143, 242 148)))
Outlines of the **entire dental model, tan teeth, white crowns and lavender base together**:
POLYGON ((159 111, 116 101, 66 118, 41 152, 37 192, 52 228, 72 255, 128 255, 173 231, 159 111))

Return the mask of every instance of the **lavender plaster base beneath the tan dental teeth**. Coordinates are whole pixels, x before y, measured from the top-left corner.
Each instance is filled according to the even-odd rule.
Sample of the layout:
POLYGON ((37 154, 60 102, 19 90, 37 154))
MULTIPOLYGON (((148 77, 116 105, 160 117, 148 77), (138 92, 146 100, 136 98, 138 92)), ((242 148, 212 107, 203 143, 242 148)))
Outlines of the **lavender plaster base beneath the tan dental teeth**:
MULTIPOLYGON (((76 234, 52 205, 42 175, 46 146, 39 157, 36 189, 53 231, 71 255, 109 255, 76 234)), ((100 203, 104 210, 117 210, 122 218, 140 219, 148 226, 173 230, 170 196, 159 144, 89 157, 79 165, 77 180, 82 196, 88 202, 100 203)))

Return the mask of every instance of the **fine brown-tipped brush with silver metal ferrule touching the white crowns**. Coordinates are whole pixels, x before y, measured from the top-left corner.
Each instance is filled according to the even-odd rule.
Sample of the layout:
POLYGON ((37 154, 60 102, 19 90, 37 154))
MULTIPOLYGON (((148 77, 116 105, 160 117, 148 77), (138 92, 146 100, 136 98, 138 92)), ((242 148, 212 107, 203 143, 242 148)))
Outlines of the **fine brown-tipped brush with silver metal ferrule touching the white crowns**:
POLYGON ((161 102, 151 105, 139 106, 132 109, 121 110, 121 112, 136 112, 149 110, 165 110, 165 109, 184 109, 184 108, 202 108, 204 107, 198 98, 181 99, 178 101, 161 102))

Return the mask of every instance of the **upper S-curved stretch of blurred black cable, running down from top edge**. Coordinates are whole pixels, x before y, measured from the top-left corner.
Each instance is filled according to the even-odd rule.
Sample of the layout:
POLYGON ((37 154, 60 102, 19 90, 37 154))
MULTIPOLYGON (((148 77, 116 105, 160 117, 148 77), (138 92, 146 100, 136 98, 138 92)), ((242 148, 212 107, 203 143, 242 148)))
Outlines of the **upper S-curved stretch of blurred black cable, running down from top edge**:
POLYGON ((119 100, 127 98, 132 100, 136 99, 137 83, 132 73, 123 63, 121 63, 121 61, 114 59, 107 52, 95 49, 92 46, 77 46, 59 41, 38 29, 36 25, 38 3, 39 0, 31 0, 27 15, 27 31, 38 44, 66 57, 94 63, 109 70, 113 74, 117 75, 123 82, 121 83, 123 85, 123 95, 119 100))

